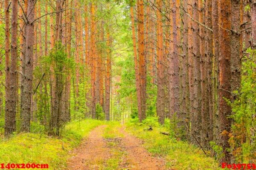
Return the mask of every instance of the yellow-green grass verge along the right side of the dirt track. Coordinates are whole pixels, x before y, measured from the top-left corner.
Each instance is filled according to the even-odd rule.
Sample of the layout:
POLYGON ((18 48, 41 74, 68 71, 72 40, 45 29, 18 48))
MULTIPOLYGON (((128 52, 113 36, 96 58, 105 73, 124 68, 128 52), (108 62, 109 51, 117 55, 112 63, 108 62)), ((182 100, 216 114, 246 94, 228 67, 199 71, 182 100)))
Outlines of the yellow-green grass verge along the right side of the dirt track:
MULTIPOLYGON (((127 130, 144 141, 144 147, 154 155, 163 156, 167 167, 177 170, 219 170, 218 162, 206 156, 202 150, 187 142, 177 141, 174 137, 160 134, 160 131, 170 131, 168 127, 160 126, 154 118, 148 118, 143 123, 131 120, 127 130), (153 120, 152 120, 153 119, 153 120), (152 131, 146 130, 148 126, 152 131)), ((171 133, 172 134, 172 133, 171 133)))

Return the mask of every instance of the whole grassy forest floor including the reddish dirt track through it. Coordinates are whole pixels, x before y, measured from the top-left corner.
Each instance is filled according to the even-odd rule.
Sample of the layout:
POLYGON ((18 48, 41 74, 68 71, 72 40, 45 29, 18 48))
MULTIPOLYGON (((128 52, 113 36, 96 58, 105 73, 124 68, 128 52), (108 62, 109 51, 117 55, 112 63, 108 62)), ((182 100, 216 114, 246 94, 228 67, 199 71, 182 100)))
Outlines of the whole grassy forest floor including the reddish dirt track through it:
POLYGON ((106 122, 84 119, 68 123, 61 137, 48 136, 32 123, 31 133, 3 139, 0 119, 0 162, 49 164, 49 170, 220 170, 219 164, 197 146, 180 141, 172 124, 154 117, 142 123, 130 119, 106 122), (151 126, 152 129, 148 130, 151 126), (160 132, 169 132, 170 136, 160 132))

